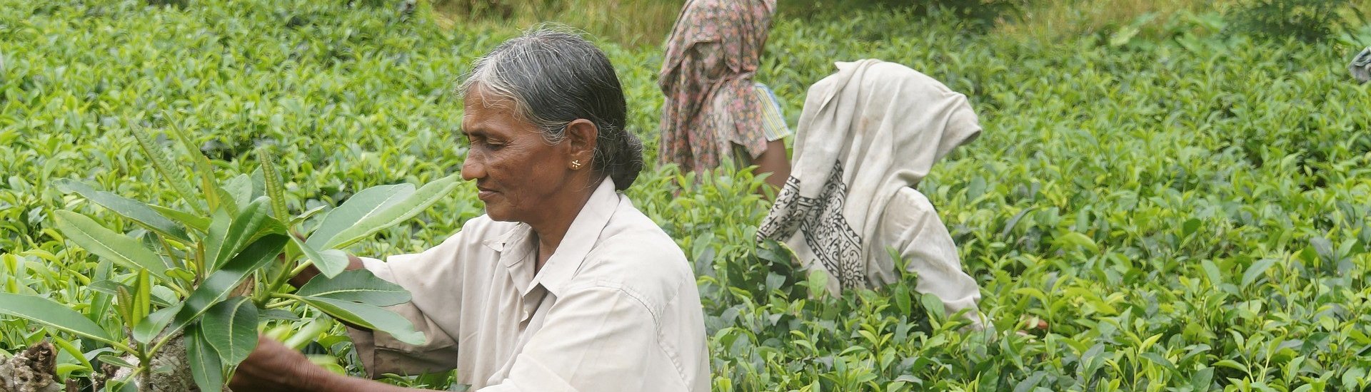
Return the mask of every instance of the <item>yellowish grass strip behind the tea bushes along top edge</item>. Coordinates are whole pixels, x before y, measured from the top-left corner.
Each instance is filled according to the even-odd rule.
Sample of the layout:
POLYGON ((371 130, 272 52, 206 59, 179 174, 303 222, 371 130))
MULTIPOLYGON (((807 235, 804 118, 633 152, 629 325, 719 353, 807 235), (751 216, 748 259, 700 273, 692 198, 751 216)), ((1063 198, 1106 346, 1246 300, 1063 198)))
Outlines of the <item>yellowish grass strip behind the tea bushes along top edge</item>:
MULTIPOLYGON (((973 10, 967 14, 990 22, 988 34, 1013 40, 1053 41, 1064 37, 1108 36, 1120 30, 1132 30, 1130 34, 1158 38, 1174 32, 1174 29, 1168 29, 1168 23, 1178 18, 1206 12, 1231 12, 1248 7, 1253 1, 999 0, 965 4, 968 1, 943 0, 910 5, 905 1, 890 0, 797 0, 780 3, 777 18, 825 23, 825 21, 842 19, 857 10, 898 12, 898 10, 913 8, 919 10, 920 15, 925 15, 931 11, 930 7, 943 8, 943 11, 931 11, 936 14, 936 18, 956 18, 946 12, 946 8, 965 7, 965 10, 973 10)), ((642 48, 659 45, 670 34, 672 23, 681 4, 684 4, 681 0, 435 0, 433 10, 443 26, 463 23, 480 26, 480 29, 509 30, 514 26, 557 22, 581 29, 606 41, 642 48)), ((1371 0, 1349 0, 1345 4, 1342 15, 1345 21, 1366 23, 1364 15, 1371 12, 1371 0)))

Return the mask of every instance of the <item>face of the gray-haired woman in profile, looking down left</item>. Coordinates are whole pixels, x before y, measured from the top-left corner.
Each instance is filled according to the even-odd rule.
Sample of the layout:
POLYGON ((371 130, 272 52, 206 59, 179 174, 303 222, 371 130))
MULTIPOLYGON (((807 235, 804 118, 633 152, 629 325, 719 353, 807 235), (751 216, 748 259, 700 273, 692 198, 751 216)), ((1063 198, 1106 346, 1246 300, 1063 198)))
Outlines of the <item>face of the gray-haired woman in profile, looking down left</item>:
POLYGON ((495 221, 536 223, 559 215, 554 206, 572 182, 568 140, 548 144, 509 101, 487 103, 480 86, 466 95, 462 134, 468 140, 462 178, 476 180, 485 214, 495 221))

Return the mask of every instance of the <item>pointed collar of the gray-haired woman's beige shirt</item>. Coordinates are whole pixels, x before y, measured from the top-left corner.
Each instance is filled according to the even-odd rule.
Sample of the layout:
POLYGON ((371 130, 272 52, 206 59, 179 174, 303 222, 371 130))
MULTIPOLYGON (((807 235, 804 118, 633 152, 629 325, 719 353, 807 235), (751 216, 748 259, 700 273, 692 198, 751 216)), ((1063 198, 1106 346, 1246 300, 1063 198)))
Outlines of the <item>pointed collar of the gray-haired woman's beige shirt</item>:
MULTIPOLYGON (((585 206, 581 206, 581 211, 576 214, 576 219, 566 229, 566 236, 562 237, 562 243, 557 245, 557 251, 553 256, 547 259, 547 265, 533 277, 533 281, 522 288, 526 293, 533 286, 539 284, 543 285, 553 295, 561 295, 563 286, 576 275, 580 270, 581 262, 585 260, 585 255, 590 254, 591 248, 595 245, 595 240, 599 238, 600 232, 609 225, 610 217, 614 215, 614 210, 618 208, 620 196, 614 192, 614 181, 605 178, 600 185, 595 188, 591 193, 590 200, 585 206)), ((533 228, 526 223, 520 223, 514 229, 502 234, 498 238, 487 240, 484 244, 496 252, 520 251, 522 241, 533 240, 533 228)), ((532 248, 532 247, 529 247, 532 248)), ((528 266, 521 266, 524 260, 535 259, 533 255, 515 256, 505 255, 500 258, 505 266, 510 269, 511 274, 517 271, 514 269, 532 269, 528 266)))

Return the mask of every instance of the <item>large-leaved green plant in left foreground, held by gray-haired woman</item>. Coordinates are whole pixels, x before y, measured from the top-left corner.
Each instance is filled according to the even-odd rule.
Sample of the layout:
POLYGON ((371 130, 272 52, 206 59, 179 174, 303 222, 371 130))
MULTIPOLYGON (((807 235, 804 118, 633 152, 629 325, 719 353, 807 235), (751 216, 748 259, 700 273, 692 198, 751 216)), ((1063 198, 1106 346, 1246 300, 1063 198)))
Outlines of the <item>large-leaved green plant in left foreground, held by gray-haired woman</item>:
MULTIPOLYGON (((169 133, 186 149, 196 151, 181 130, 169 133)), ((400 184, 358 192, 329 211, 308 238, 302 238, 293 229, 322 207, 292 217, 274 158, 266 148, 258 149, 260 171, 252 175, 259 181, 240 174, 218 182, 204 156, 192 154, 195 175, 186 175, 143 130, 134 129, 133 136, 178 193, 180 206, 145 204, 80 181, 55 181, 63 192, 140 228, 130 236, 78 212, 53 214, 55 228, 66 240, 115 266, 108 280, 90 286, 114 297, 118 329, 111 332, 36 295, 0 293, 0 313, 114 348, 115 354, 103 355, 101 362, 130 371, 119 373, 123 377, 112 381, 111 391, 133 384, 141 385, 140 389, 174 391, 178 387, 173 385, 180 384, 154 382, 154 373, 180 369, 189 370, 199 391, 219 391, 233 367, 256 347, 259 321, 280 317, 280 308, 295 304, 389 333, 400 341, 424 341, 424 334, 407 319, 383 308, 409 302, 409 292, 366 270, 344 271, 348 256, 341 248, 420 214, 457 186, 455 175, 418 189, 400 184), (317 267, 322 277, 299 291, 285 286, 287 280, 308 266, 317 267), (167 347, 182 351, 169 354, 167 347)))

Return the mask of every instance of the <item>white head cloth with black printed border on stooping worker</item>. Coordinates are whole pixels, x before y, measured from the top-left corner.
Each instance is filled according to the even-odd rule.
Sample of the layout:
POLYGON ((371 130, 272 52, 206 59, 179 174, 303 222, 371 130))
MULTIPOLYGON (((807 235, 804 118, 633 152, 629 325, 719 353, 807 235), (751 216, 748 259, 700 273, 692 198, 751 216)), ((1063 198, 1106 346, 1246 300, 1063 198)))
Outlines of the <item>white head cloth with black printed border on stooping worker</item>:
POLYGON ((843 288, 866 286, 882 212, 934 163, 980 134, 967 96, 909 67, 875 59, 836 63, 809 88, 791 177, 757 230, 784 241, 801 265, 843 288))

